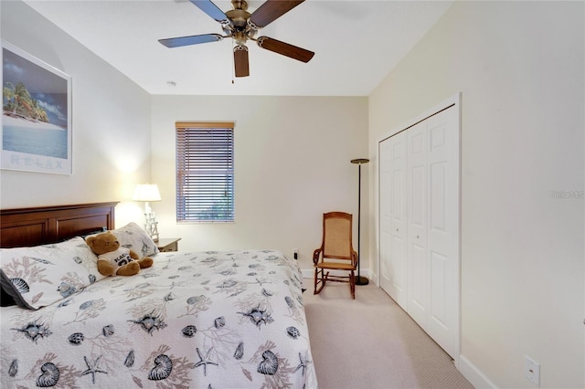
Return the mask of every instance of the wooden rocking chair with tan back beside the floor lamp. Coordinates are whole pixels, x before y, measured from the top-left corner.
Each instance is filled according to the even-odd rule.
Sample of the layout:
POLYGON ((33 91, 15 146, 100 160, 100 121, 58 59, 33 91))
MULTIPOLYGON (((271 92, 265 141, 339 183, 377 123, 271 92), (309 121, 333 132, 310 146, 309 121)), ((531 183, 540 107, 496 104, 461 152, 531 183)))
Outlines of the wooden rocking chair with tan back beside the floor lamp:
POLYGON ((356 299, 357 253, 352 245, 352 218, 345 212, 323 214, 323 242, 313 253, 314 294, 319 293, 327 281, 348 282, 351 298, 356 299), (329 274, 325 270, 337 273, 329 274), (341 271, 348 271, 348 275, 340 275, 341 271))

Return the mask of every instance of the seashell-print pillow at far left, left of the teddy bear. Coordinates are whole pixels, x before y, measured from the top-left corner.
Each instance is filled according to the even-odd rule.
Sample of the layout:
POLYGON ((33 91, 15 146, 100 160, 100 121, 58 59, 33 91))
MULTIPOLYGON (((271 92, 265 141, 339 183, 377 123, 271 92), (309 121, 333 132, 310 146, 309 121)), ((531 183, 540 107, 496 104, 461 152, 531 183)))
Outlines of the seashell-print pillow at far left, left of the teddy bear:
POLYGON ((16 304, 45 307, 103 279, 81 237, 36 247, 0 249, 0 285, 16 304))

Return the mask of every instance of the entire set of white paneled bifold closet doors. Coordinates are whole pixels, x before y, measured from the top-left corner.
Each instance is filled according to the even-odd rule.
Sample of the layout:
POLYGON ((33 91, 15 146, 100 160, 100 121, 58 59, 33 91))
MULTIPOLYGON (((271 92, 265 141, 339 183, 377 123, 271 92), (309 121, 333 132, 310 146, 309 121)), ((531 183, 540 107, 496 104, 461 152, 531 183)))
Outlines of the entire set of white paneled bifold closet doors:
POLYGON ((459 109, 380 142, 380 285, 458 358, 459 109))

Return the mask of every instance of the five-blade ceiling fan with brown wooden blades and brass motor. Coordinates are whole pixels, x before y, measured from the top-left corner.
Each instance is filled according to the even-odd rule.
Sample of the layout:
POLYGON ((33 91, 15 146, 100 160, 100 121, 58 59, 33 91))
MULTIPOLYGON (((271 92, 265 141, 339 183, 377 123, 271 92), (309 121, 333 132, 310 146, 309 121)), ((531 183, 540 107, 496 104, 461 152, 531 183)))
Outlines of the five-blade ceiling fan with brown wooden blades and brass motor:
POLYGON ((309 62, 314 56, 313 51, 305 50, 304 48, 296 47, 271 37, 255 37, 258 30, 268 26, 271 22, 286 14, 295 6, 303 3, 304 0, 267 0, 251 14, 248 12, 248 3, 245 0, 231 0, 234 9, 230 9, 226 13, 221 11, 218 5, 213 4, 211 0, 190 0, 190 2, 197 5, 208 16, 211 16, 219 22, 226 35, 203 34, 159 39, 158 41, 165 45, 165 47, 198 45, 207 42, 217 42, 225 37, 231 37, 236 45, 234 47, 236 77, 250 76, 248 47, 246 47, 246 41, 249 39, 258 43, 258 46, 262 48, 305 63, 309 62))

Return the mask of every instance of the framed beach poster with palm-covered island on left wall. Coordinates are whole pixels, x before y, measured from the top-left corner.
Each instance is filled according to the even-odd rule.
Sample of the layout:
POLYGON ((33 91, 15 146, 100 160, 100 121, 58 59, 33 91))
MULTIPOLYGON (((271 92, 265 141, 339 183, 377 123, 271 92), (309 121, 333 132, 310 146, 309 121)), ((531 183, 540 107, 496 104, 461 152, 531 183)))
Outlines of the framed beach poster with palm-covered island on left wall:
POLYGON ((72 173, 71 78, 2 41, 0 168, 72 173))

